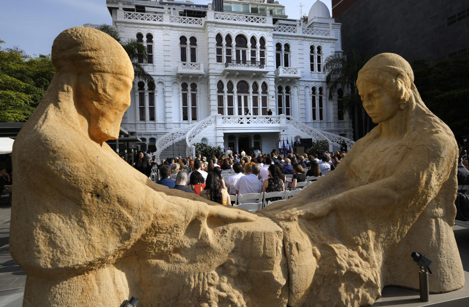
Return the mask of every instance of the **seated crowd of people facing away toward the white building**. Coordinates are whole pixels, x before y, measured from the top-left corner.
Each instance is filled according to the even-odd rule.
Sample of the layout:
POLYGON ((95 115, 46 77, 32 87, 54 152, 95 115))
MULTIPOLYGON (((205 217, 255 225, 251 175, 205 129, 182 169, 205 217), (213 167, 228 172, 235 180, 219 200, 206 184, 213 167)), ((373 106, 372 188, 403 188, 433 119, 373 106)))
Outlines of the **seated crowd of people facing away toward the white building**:
POLYGON ((285 186, 295 189, 298 183, 305 182, 309 176, 319 177, 333 171, 345 155, 344 152, 336 151, 309 156, 287 154, 284 157, 274 151, 263 155, 254 152, 247 155, 241 151, 238 155, 227 150, 219 157, 175 157, 158 163, 155 157, 150 159, 140 151, 133 167, 146 176, 154 176, 157 184, 228 205, 231 204, 230 194, 284 191, 285 186), (230 176, 222 176, 222 171, 227 173, 226 170, 231 170, 230 176))

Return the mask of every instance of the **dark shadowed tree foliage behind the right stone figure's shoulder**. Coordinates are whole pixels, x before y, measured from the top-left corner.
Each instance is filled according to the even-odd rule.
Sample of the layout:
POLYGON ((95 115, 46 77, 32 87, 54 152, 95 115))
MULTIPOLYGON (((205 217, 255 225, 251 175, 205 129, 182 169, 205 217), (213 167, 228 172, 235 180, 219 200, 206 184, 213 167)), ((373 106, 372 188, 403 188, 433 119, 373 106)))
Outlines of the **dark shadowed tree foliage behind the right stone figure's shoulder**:
POLYGON ((469 57, 412 63, 414 83, 426 106, 448 124, 454 136, 469 135, 469 57))

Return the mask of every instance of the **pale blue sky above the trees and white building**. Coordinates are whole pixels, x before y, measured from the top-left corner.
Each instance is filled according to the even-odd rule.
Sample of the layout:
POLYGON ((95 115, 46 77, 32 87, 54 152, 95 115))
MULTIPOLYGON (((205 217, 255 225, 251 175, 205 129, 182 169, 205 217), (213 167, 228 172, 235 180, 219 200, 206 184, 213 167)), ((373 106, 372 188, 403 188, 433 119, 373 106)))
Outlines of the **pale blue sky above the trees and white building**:
MULTIPOLYGON (((290 18, 299 18, 299 7, 306 15, 315 0, 278 0, 290 18)), ((192 0, 207 4, 208 0, 192 0)), ((212 1, 210 1, 212 2, 212 1)), ((323 0, 331 10, 331 0, 323 0)), ((0 4, 1 46, 17 46, 29 55, 49 54, 55 37, 64 29, 85 23, 110 24, 106 0, 2 0, 0 4)))

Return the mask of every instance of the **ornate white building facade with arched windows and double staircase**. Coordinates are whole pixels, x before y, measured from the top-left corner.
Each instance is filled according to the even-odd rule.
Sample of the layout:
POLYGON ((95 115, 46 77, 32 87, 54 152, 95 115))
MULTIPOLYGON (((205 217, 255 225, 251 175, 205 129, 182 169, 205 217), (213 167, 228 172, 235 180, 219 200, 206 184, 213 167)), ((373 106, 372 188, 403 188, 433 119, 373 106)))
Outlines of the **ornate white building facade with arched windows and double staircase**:
POLYGON ((319 0, 307 23, 264 0, 107 7, 124 40, 147 46, 148 61, 139 61, 154 82, 134 81, 122 127, 155 144, 157 158, 193 154, 199 142, 238 152, 270 152, 279 138, 353 143, 343 92, 328 99, 323 69, 342 52, 341 24, 319 0))

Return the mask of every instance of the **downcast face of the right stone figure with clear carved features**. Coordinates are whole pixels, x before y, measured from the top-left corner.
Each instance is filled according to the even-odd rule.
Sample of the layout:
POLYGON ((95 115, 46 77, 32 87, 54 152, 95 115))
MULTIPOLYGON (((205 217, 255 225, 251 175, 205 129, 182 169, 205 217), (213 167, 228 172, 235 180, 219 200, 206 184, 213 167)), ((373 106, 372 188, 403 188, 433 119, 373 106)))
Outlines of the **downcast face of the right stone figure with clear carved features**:
POLYGON ((361 82, 358 85, 363 108, 373 123, 382 123, 393 118, 399 112, 400 101, 391 96, 382 84, 361 82))

